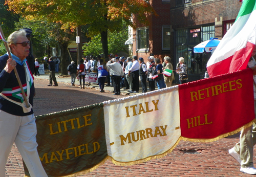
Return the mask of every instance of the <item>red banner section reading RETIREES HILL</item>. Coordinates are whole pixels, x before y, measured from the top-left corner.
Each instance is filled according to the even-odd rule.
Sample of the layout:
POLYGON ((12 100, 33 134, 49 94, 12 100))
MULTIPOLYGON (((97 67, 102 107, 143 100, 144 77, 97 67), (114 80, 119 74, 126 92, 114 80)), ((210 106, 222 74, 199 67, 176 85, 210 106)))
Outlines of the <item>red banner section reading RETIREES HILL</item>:
POLYGON ((183 139, 210 142, 254 121, 251 69, 179 86, 183 139))

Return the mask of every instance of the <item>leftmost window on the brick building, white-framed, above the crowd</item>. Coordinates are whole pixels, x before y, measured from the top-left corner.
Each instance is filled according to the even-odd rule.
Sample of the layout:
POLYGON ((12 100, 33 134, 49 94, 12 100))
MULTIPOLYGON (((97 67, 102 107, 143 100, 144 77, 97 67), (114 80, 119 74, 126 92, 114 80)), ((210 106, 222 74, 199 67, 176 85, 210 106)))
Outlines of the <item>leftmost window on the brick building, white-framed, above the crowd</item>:
POLYGON ((137 28, 137 50, 148 50, 150 46, 148 27, 137 28))

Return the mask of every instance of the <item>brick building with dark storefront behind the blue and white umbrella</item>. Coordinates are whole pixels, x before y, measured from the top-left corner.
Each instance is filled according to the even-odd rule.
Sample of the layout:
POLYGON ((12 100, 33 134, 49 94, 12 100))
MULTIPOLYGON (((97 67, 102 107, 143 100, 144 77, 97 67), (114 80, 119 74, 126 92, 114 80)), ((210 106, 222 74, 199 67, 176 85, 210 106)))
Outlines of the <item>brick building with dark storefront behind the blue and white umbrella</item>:
POLYGON ((210 37, 222 39, 236 20, 242 3, 236 0, 170 1, 170 57, 174 59, 174 66, 179 57, 185 58, 189 81, 202 79, 211 53, 194 53, 194 47, 210 37))

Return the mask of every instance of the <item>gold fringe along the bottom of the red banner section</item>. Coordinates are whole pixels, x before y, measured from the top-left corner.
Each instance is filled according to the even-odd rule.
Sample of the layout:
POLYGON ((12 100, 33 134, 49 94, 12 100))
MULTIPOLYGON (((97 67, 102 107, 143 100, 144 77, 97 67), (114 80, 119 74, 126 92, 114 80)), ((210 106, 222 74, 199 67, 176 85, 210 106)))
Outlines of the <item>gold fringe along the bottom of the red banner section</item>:
POLYGON ((218 136, 216 138, 211 138, 211 139, 194 139, 194 138, 181 137, 181 140, 183 140, 183 141, 191 141, 191 142, 198 142, 198 143, 210 143, 210 142, 214 142, 214 141, 217 141, 219 139, 222 139, 222 138, 225 138, 225 137, 237 134, 238 132, 240 132, 241 130, 243 130, 245 128, 248 128, 249 126, 251 126, 255 122, 256 122, 256 119, 253 119, 252 121, 250 121, 249 123, 243 125, 242 127, 238 128, 238 129, 236 129, 234 131, 227 132, 226 134, 222 134, 222 135, 220 135, 220 136, 218 136))

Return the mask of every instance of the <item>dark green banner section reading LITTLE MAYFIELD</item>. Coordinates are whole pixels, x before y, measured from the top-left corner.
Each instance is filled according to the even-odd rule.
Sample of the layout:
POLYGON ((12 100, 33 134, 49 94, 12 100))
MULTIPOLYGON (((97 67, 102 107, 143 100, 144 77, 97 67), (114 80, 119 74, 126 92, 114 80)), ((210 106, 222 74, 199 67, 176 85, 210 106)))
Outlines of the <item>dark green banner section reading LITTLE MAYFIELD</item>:
POLYGON ((37 116, 36 125, 37 150, 48 176, 84 174, 107 159, 102 103, 37 116))

